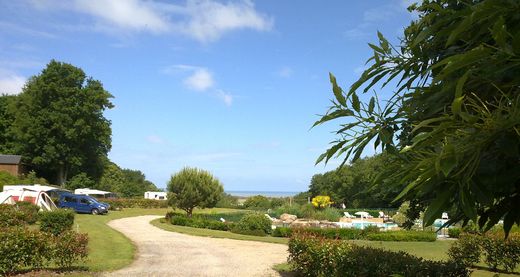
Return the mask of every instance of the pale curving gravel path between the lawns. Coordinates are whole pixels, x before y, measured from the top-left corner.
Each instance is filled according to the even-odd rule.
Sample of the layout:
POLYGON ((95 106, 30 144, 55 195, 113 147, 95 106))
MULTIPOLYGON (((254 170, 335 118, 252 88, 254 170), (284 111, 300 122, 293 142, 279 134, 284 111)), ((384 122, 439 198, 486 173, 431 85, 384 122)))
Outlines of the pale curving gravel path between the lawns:
POLYGON ((136 244, 137 257, 106 276, 279 276, 271 267, 287 259, 286 245, 168 232, 150 224, 159 217, 108 223, 136 244))

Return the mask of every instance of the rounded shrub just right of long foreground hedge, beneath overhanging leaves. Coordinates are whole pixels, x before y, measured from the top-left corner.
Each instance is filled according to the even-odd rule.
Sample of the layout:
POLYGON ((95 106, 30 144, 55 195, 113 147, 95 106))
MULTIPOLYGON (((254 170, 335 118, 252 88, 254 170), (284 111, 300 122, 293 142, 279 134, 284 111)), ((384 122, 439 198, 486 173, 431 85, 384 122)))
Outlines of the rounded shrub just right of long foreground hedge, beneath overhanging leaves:
POLYGON ((450 259, 465 267, 472 267, 480 261, 480 239, 476 235, 462 234, 448 249, 450 259))

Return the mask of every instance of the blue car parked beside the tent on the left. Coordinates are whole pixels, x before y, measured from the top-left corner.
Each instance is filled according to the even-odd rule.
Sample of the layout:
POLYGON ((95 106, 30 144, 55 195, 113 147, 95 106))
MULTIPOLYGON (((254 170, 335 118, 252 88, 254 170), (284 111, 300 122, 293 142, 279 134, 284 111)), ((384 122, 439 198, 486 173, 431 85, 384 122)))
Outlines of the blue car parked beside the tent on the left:
POLYGON ((110 205, 92 196, 80 194, 62 194, 58 203, 58 207, 73 209, 77 213, 106 214, 110 208, 110 205))

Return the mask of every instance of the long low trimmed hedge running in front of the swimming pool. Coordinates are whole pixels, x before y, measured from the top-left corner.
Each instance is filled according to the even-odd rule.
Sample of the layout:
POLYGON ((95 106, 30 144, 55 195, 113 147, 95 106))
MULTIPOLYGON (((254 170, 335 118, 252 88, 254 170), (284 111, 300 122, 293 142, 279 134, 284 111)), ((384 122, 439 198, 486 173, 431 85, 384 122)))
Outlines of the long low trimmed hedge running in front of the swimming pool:
MULTIPOLYGON (((300 228, 303 232, 328 239, 341 240, 373 240, 373 241, 435 241, 437 235, 426 231, 384 231, 377 228, 366 228, 364 230, 354 228, 300 228)), ((273 231, 274 237, 290 237, 293 229, 289 227, 278 227, 273 231)))

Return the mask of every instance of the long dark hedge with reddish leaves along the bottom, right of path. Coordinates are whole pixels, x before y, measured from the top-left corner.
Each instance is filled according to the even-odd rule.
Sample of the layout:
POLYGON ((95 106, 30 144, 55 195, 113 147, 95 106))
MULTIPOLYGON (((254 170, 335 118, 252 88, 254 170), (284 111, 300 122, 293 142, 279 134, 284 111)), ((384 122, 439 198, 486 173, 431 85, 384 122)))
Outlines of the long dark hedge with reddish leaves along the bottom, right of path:
POLYGON ((428 261, 402 251, 299 232, 289 240, 289 262, 302 276, 469 276, 457 263, 428 261))

